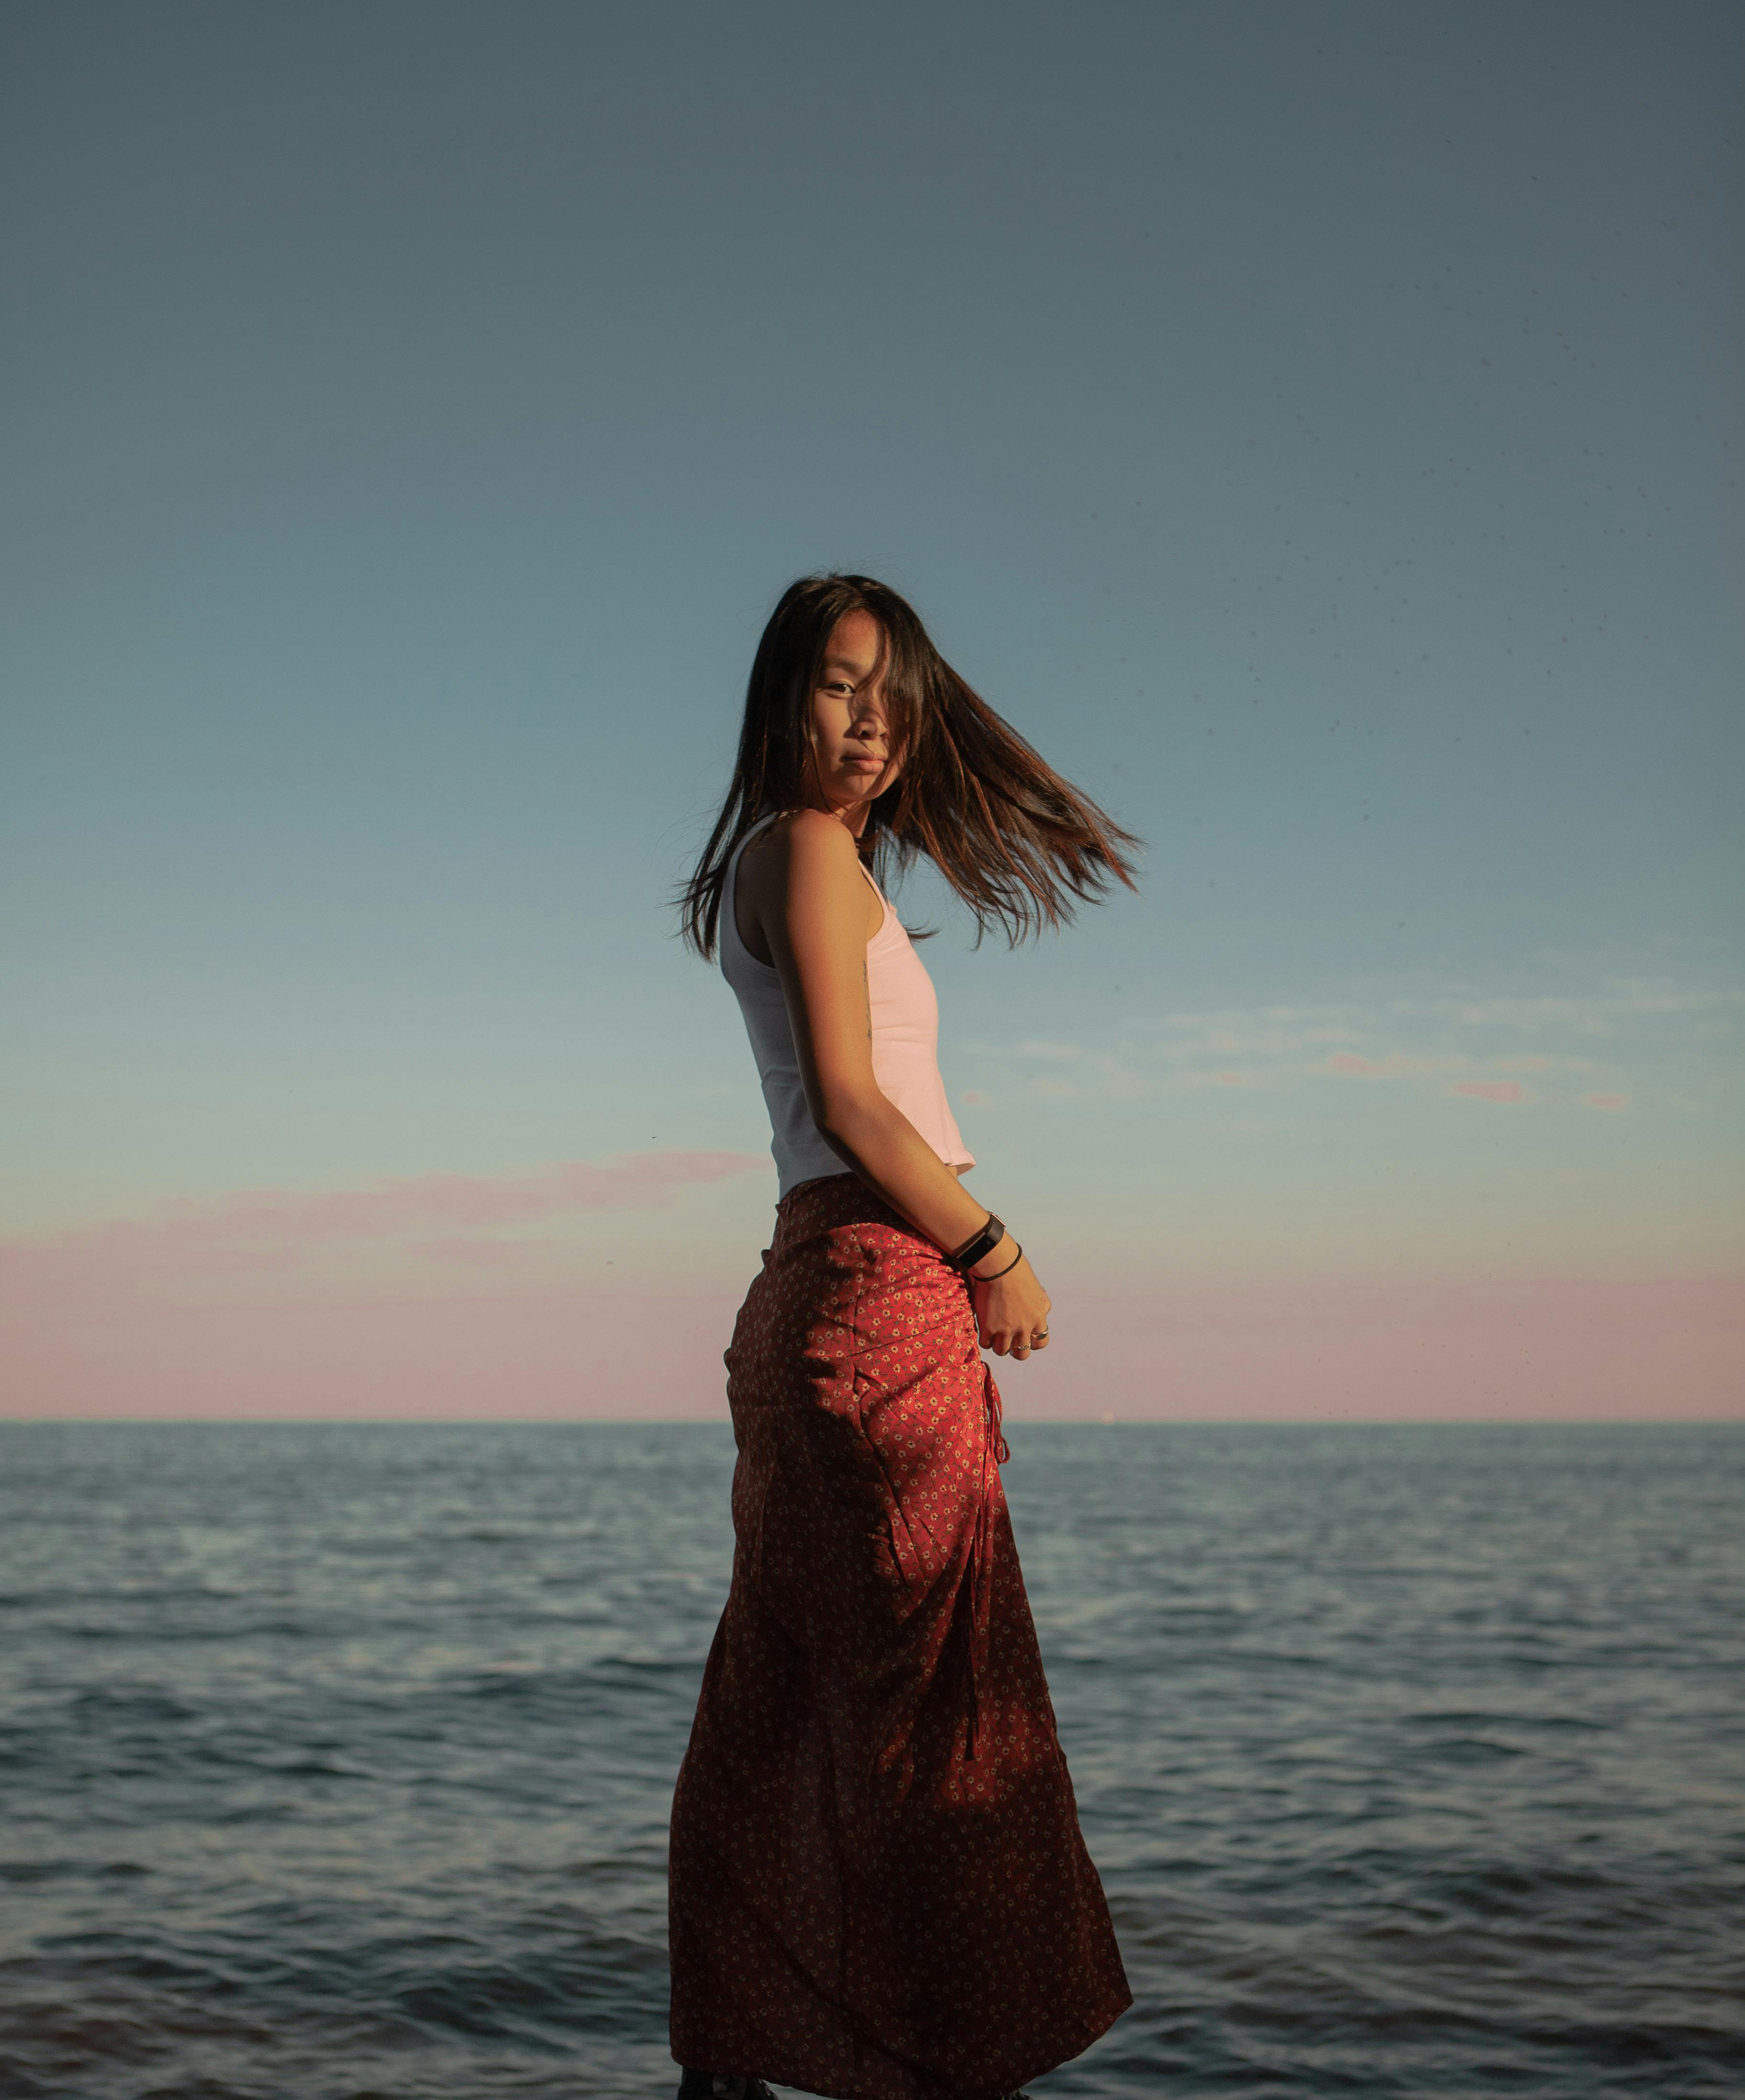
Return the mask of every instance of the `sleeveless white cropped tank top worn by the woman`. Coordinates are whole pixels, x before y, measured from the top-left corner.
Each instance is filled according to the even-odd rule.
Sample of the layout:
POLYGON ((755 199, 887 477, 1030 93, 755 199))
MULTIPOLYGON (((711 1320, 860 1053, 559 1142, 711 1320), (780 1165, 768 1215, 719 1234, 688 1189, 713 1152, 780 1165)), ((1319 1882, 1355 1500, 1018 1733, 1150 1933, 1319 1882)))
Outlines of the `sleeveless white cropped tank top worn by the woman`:
MULTIPOLYGON (((848 1163, 819 1136, 806 1088, 800 1082, 800 1058, 794 1052, 794 1029, 787 1023, 787 1002, 773 964, 758 958, 739 939, 733 897, 739 878, 739 855, 773 817, 762 817, 733 848, 727 880, 720 886, 720 970, 739 998, 752 1056, 771 1121, 771 1153, 779 1176, 777 1201, 800 1182, 823 1174, 846 1174, 848 1163)), ((903 922, 890 909, 884 892, 871 882, 874 897, 884 905, 884 920, 867 941, 867 991, 871 998, 874 1079, 884 1098, 901 1109, 939 1157, 955 1168, 972 1168, 974 1155, 958 1134, 945 1082, 939 1077, 939 998, 926 964, 903 922)))

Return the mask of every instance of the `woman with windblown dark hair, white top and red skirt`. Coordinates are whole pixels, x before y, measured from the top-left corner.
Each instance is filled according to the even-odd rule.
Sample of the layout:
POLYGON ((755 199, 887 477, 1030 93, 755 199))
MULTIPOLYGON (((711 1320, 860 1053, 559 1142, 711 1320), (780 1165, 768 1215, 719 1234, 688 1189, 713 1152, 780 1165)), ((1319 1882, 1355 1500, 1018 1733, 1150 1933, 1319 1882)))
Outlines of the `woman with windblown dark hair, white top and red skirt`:
POLYGON ((1138 842, 865 575, 787 590, 685 932, 775 1130, 733 1329, 733 1588, 672 1804, 680 2100, 1004 2100, 1130 2003, 1000 1487, 981 1348, 1048 1294, 962 1184, 939 1010, 874 878, 928 855, 985 930, 1056 926, 1138 842))

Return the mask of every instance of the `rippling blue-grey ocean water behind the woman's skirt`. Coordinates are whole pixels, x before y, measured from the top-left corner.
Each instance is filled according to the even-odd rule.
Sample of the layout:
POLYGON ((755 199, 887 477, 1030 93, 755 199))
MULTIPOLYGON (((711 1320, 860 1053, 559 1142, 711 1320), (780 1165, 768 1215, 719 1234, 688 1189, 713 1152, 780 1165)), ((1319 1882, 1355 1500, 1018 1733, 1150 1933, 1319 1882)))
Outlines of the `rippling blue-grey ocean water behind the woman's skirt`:
MULTIPOLYGON (((1042 2096, 1745 2094, 1745 1430, 1008 1424, 1138 2003, 1042 2096)), ((0 2096, 670 2096, 731 1436, 0 1426, 0 2096)))

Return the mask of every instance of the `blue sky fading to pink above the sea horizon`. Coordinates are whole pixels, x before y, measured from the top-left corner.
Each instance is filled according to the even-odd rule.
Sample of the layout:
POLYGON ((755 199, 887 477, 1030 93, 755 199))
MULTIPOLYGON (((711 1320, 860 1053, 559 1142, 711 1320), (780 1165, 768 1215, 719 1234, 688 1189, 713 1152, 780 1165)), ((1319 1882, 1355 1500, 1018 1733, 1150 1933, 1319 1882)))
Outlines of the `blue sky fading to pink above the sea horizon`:
POLYGON ((1014 1415, 1745 1413, 1745 15, 15 4, 0 1411, 724 1415, 798 573, 1147 840, 937 928, 1014 1415))

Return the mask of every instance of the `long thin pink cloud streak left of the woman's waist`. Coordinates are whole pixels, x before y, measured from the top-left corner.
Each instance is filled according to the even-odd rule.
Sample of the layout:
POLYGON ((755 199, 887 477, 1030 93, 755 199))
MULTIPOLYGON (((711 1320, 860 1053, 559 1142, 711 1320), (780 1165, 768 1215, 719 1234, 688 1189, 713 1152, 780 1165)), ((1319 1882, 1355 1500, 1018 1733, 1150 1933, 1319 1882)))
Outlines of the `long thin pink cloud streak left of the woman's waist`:
POLYGON ((178 1279, 262 1277, 344 1243, 437 1233, 424 1252, 496 1260, 472 1233, 577 1210, 664 1210, 680 1189, 750 1174, 756 1153, 619 1153, 538 1174, 420 1174, 363 1189, 239 1189, 160 1203, 149 1218, 109 1218, 46 1237, 0 1239, 0 1302, 92 1304, 178 1279), (449 1231, 443 1233, 441 1228, 449 1231))

